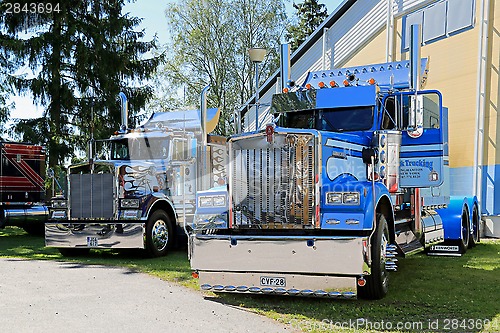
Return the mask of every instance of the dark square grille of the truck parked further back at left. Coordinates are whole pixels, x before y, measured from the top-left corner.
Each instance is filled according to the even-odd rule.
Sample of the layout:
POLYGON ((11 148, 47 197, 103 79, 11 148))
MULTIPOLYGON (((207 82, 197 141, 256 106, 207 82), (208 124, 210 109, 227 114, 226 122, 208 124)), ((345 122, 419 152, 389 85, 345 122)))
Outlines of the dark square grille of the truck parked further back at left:
POLYGON ((72 174, 69 180, 71 218, 113 218, 112 174, 72 174))

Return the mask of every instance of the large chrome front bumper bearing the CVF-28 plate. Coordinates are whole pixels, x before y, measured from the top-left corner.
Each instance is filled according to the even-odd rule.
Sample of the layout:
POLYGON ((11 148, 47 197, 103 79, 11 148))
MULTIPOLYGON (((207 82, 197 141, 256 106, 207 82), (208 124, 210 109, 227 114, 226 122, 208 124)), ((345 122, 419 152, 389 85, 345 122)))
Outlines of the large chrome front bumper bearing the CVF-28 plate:
POLYGON ((204 290, 351 298, 370 274, 367 240, 192 235, 191 267, 204 290))

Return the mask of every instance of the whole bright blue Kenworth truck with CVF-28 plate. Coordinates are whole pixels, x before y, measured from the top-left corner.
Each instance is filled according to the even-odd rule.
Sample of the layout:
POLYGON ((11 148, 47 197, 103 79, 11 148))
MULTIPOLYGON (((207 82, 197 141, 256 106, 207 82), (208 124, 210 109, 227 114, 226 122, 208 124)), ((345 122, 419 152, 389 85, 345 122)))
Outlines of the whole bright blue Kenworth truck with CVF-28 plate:
POLYGON ((227 141, 228 186, 197 193, 201 288, 380 299, 396 257, 473 247, 479 204, 450 196, 448 109, 427 73, 418 56, 273 95, 275 121, 227 141))

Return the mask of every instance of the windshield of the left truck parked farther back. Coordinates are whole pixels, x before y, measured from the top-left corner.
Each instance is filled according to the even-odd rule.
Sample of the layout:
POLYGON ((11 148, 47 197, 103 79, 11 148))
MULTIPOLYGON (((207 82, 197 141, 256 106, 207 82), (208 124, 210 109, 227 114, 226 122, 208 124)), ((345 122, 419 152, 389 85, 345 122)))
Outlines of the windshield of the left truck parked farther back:
POLYGON ((146 137, 116 140, 111 143, 112 160, 153 160, 168 156, 168 140, 146 137))

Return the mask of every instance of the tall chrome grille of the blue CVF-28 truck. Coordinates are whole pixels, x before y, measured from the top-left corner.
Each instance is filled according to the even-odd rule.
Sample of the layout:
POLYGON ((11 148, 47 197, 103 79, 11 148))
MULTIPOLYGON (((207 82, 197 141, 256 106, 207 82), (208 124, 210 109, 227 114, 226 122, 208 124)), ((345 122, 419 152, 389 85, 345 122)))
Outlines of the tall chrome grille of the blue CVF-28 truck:
POLYGON ((275 134, 230 142, 235 227, 303 228, 314 218, 314 136, 275 134))

